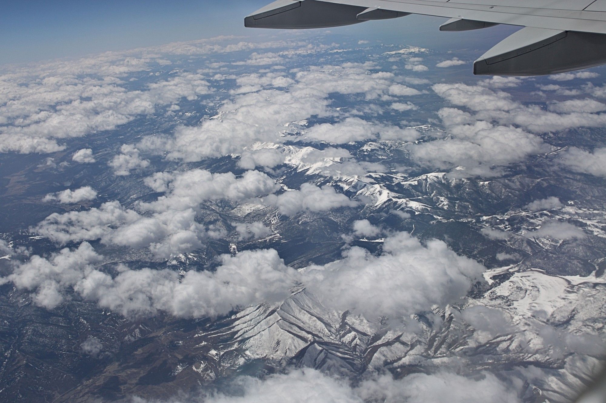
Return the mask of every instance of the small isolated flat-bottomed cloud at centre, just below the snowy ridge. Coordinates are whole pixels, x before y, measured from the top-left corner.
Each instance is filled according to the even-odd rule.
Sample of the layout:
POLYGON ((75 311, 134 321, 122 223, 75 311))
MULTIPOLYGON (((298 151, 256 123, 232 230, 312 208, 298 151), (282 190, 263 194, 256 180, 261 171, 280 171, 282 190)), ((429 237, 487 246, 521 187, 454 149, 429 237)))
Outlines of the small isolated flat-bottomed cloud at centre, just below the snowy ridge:
POLYGON ((278 208, 280 214, 295 215, 302 211, 328 211, 339 207, 355 207, 356 201, 350 200, 346 195, 337 193, 331 186, 322 188, 304 183, 301 190, 287 191, 281 195, 269 195, 264 202, 278 208))

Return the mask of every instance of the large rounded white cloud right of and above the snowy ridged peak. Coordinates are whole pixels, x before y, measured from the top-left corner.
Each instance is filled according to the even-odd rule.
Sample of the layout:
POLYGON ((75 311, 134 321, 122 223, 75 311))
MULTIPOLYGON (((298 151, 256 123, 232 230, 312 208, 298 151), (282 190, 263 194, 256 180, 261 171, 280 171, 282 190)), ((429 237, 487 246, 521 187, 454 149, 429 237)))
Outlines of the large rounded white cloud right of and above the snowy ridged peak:
POLYGON ((343 260, 307 267, 304 283, 325 306, 353 309, 368 320, 398 319, 464 298, 484 270, 442 241, 424 246, 401 232, 385 239, 379 256, 352 247, 343 260))

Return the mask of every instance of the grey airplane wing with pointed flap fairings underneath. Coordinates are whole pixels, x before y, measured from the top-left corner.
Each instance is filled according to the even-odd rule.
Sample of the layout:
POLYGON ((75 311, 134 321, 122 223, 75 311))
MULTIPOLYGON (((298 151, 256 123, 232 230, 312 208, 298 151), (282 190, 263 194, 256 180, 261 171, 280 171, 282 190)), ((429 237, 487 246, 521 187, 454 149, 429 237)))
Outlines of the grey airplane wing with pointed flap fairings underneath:
POLYGON ((244 25, 325 28, 410 14, 450 18, 441 31, 524 27, 479 57, 474 74, 537 76, 606 64, 606 0, 278 0, 244 25))

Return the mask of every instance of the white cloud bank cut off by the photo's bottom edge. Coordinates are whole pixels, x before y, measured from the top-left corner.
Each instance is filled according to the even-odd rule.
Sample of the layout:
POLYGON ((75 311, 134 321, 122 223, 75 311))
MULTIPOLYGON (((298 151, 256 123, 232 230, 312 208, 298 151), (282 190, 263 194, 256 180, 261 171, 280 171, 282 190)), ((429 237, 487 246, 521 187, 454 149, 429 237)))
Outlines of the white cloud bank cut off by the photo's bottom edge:
MULTIPOLYGON (((516 388, 500 381, 490 373, 474 378, 451 372, 433 374, 414 373, 402 379, 390 374, 372 374, 359 385, 337 376, 330 376, 311 368, 288 369, 264 379, 239 376, 229 385, 229 392, 208 392, 198 396, 173 398, 162 403, 518 403, 516 388), (236 392, 237 391, 237 392, 236 392)), ((161 403, 135 398, 133 403, 161 403)))

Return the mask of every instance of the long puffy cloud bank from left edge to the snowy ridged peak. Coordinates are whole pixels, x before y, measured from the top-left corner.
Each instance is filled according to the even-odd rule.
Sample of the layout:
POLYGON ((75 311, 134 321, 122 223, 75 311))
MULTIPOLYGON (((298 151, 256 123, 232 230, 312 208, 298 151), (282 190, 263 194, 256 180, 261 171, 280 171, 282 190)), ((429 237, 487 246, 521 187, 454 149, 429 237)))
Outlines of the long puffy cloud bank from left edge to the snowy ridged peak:
POLYGON ((85 300, 127 318, 159 311, 199 318, 284 300, 297 281, 296 270, 285 266, 273 250, 222 255, 215 271, 191 270, 182 276, 170 269, 132 270, 119 265, 118 274, 112 277, 95 267, 102 259, 84 242, 77 249, 65 248, 48 258, 35 255, 2 282, 32 290, 32 300, 47 309, 61 304, 72 288, 85 300))

